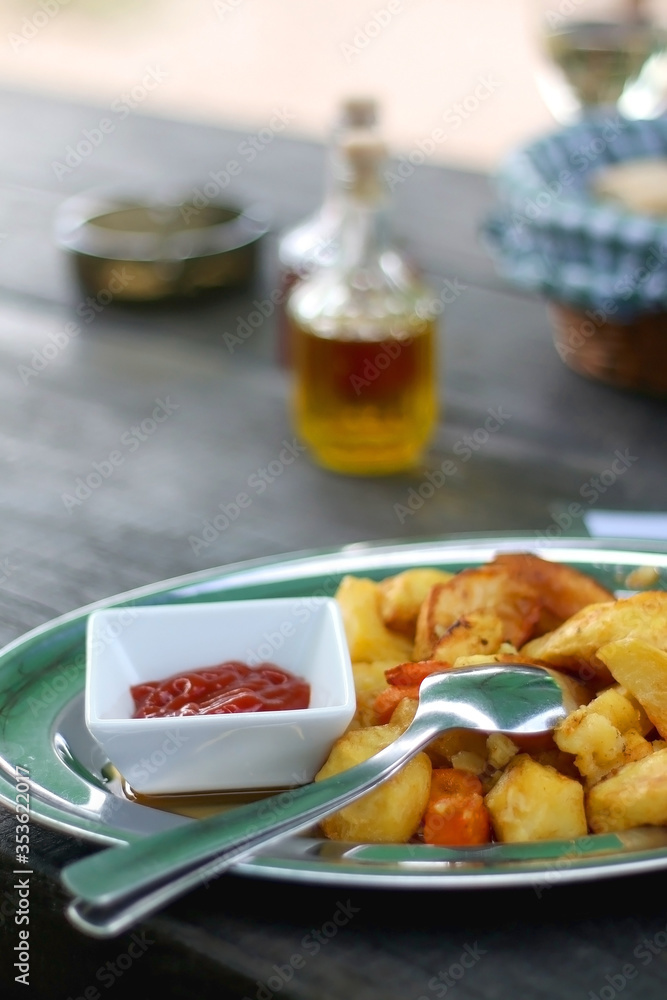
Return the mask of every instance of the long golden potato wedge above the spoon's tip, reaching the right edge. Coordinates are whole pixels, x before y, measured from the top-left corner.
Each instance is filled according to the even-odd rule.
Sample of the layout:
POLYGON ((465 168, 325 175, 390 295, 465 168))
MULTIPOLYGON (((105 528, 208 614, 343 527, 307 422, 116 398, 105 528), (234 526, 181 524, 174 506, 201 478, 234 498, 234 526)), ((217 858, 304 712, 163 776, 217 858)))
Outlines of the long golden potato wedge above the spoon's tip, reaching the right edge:
POLYGON ((521 652, 578 674, 582 680, 610 684, 612 675, 597 652, 607 643, 627 637, 667 650, 667 592, 649 590, 618 601, 591 604, 553 632, 528 642, 521 652))

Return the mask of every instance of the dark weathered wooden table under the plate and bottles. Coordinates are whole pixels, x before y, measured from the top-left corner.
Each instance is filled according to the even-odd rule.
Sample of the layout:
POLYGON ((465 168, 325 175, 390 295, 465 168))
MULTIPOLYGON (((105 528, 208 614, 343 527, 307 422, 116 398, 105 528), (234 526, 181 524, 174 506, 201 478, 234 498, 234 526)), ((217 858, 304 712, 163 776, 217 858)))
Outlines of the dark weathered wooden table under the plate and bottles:
MULTIPOLYGON (((65 196, 100 184, 154 190, 168 181, 191 191, 235 156, 245 136, 133 114, 63 173, 54 162, 108 109, 15 93, 1 94, 0 106, 3 643, 89 602, 248 558, 468 532, 558 537, 554 514, 582 504, 582 487, 618 452, 628 456, 627 471, 598 491, 598 505, 667 507, 664 402, 569 371, 543 304, 506 287, 480 246, 479 224, 492 203, 487 178, 425 166, 396 189, 397 224, 436 289, 449 282, 457 291, 442 336, 443 418, 424 470, 348 479, 298 452, 228 530, 193 544, 221 505, 293 441, 275 315, 234 351, 223 336, 269 301, 275 236, 265 240, 250 289, 152 309, 115 305, 86 322, 85 293, 53 243, 53 216, 65 196), (62 345, 71 322, 77 335, 45 353, 48 344, 62 345), (47 358, 41 367, 40 358, 47 358), (167 417, 151 422, 156 407, 167 417), (502 415, 501 426, 485 436, 490 413, 502 415), (118 450, 113 475, 80 503, 66 499, 118 450), (399 516, 396 504, 447 458, 456 474, 446 487, 399 516)), ((229 191, 266 201, 275 233, 317 203, 321 172, 318 146, 278 136, 229 191)), ((657 1000, 665 993, 664 874, 556 886, 540 898, 519 890, 349 891, 230 875, 148 921, 134 943, 130 935, 100 942, 65 921, 57 879, 91 846, 38 827, 31 939, 39 947, 26 991, 14 985, 7 914, 13 817, 0 818, 3 995, 91 998, 127 984, 168 997, 267 1000, 269 980, 281 1000, 430 1000, 448 992, 461 1000, 616 992, 657 1000), (336 915, 339 930, 323 934, 336 915), (644 939, 652 951, 637 951, 644 939), (127 954, 130 966, 126 958, 119 964, 127 954), (303 959, 298 970, 277 980, 294 955, 303 959)))

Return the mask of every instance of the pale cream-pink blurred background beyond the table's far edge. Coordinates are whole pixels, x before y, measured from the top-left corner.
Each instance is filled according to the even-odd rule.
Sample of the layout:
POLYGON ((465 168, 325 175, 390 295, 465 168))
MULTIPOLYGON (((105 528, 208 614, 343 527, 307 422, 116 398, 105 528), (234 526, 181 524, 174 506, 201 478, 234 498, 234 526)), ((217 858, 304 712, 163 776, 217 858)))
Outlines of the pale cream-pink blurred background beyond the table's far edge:
POLYGON ((341 97, 367 93, 396 154, 421 148, 434 163, 489 170, 554 124, 536 83, 534 9, 532 0, 3 0, 0 86, 249 130, 278 109, 284 134, 313 139, 326 137, 341 97))

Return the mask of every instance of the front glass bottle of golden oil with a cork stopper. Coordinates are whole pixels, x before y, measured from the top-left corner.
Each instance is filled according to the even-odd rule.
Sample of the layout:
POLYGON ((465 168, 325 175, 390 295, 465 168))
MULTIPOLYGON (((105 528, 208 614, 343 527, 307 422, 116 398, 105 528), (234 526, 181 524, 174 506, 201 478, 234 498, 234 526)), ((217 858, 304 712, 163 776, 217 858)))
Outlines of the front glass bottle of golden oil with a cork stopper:
POLYGON ((415 467, 437 420, 437 312, 389 238, 383 143, 359 130, 341 155, 334 259, 287 302, 293 420, 320 465, 387 475, 415 467))

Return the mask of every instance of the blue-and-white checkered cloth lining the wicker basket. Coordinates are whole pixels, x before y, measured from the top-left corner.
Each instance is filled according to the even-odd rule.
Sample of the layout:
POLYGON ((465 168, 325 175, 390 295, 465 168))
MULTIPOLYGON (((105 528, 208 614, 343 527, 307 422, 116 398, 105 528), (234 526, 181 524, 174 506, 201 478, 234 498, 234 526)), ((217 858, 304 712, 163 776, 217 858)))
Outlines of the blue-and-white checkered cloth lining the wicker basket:
POLYGON ((667 118, 630 121, 609 111, 507 157, 495 177, 497 207, 483 226, 500 273, 622 323, 667 310, 667 218, 590 194, 597 171, 649 156, 667 159, 667 118))

